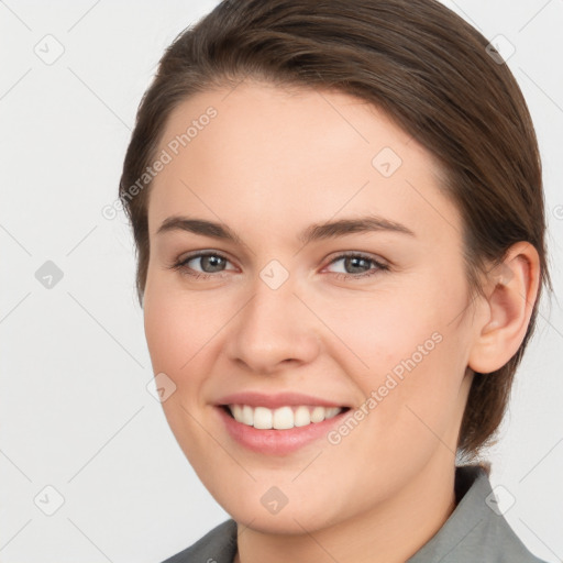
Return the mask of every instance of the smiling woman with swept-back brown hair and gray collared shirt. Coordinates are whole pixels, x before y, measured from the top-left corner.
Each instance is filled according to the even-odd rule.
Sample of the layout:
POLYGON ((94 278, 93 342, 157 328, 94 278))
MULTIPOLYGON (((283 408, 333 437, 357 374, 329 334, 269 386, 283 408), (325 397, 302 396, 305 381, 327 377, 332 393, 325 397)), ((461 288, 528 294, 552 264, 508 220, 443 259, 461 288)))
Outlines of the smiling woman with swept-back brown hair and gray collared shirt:
POLYGON ((165 415, 232 516, 168 562, 540 561, 476 462, 550 286, 533 126, 477 31, 222 2, 164 54, 120 197, 165 415))

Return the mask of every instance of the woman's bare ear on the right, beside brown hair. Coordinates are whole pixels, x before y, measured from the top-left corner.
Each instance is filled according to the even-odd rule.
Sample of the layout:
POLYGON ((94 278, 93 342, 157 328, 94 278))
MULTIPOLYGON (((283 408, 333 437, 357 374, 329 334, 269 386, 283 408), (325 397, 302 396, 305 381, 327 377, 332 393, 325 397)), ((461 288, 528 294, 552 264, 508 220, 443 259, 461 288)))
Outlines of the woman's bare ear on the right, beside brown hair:
POLYGON ((538 251, 529 242, 514 244, 487 278, 485 314, 468 358, 468 366, 482 374, 503 367, 522 343, 538 297, 538 251))

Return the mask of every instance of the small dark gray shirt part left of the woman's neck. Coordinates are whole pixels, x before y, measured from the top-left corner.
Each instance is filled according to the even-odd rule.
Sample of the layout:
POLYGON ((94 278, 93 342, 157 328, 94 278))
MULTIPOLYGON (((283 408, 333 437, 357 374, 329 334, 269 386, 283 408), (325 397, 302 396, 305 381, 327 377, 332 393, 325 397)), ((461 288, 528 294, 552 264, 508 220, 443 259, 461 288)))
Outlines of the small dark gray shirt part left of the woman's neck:
POLYGON ((229 519, 206 533, 189 548, 163 563, 232 563, 236 553, 236 522, 229 519))

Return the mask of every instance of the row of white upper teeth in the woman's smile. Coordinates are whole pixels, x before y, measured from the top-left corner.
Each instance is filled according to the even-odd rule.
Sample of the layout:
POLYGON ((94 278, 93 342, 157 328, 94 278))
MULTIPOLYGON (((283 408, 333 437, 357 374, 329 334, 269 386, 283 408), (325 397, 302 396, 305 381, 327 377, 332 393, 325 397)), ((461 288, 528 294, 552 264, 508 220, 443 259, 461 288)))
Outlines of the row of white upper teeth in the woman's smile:
POLYGON ((295 427, 306 427, 310 423, 322 422, 340 415, 339 407, 251 407, 249 405, 229 405, 232 416, 238 422, 260 430, 287 430, 295 427))

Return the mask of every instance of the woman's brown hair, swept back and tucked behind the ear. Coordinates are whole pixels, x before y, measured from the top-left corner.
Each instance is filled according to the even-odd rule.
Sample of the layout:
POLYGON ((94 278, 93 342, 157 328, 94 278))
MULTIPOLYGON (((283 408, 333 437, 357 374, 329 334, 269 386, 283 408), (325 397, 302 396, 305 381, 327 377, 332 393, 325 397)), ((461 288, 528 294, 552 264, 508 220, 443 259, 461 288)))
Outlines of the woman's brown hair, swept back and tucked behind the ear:
POLYGON ((150 181, 139 189, 139 178, 179 103, 214 87, 234 87, 245 77, 362 98, 441 164, 442 188, 462 214, 472 298, 482 292, 486 264, 499 264, 511 244, 528 241, 540 256, 540 292, 518 352, 500 369, 476 373, 473 380, 459 452, 477 454, 503 419, 541 288, 552 289, 536 133, 512 74, 487 45, 434 0, 221 2, 166 49, 136 114, 120 198, 133 227, 140 302, 150 252, 150 181))

